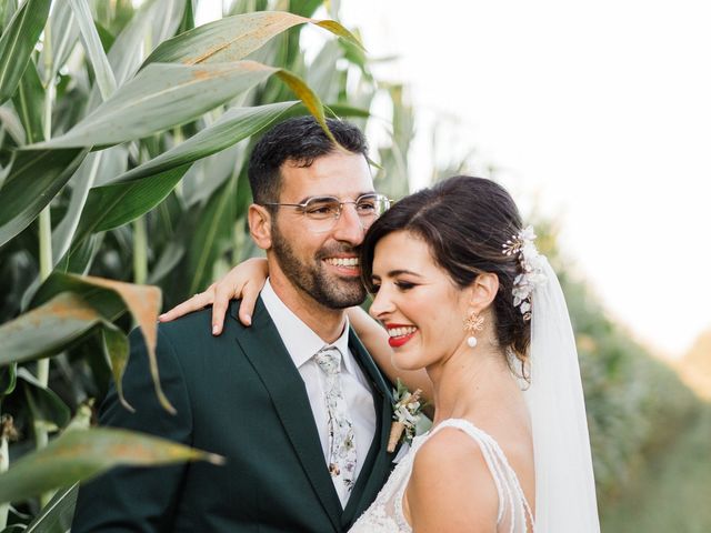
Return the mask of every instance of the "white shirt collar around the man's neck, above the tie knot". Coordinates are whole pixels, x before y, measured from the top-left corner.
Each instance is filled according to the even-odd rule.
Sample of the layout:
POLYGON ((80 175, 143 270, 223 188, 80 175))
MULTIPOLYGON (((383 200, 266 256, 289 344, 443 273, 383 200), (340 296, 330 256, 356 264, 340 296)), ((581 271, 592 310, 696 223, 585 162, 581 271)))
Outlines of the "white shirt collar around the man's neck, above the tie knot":
POLYGON ((264 283, 261 298, 297 368, 300 368, 309 361, 322 348, 332 345, 340 350, 344 369, 353 373, 353 362, 351 358, 348 356, 348 331, 350 325, 348 316, 346 316, 346 324, 341 335, 336 342, 329 344, 317 335, 311 328, 304 324, 301 319, 281 301, 271 286, 269 279, 267 279, 264 283))

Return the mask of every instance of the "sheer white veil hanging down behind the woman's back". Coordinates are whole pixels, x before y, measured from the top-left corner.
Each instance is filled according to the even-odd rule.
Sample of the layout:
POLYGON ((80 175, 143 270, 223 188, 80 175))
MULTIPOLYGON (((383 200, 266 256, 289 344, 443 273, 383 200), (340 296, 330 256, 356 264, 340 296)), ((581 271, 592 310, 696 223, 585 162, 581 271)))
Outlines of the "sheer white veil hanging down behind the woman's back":
POLYGON ((595 484, 580 366, 555 272, 532 292, 530 379, 524 398, 533 426, 535 530, 599 533, 595 484))

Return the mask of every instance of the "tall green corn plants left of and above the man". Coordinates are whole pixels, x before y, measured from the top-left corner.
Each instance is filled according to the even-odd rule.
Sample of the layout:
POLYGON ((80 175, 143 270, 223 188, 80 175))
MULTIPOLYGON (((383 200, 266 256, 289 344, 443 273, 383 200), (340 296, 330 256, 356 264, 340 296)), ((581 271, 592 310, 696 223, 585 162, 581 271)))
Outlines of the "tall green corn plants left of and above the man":
POLYGON ((252 253, 250 138, 292 114, 326 125, 324 109, 364 119, 375 86, 362 56, 339 62, 362 50, 358 38, 310 18, 321 1, 294 2, 292 13, 272 11, 277 1, 234 2, 200 28, 193 0, 1 3, 0 455, 9 447, 10 466, 0 461, 0 530, 2 502, 12 502, 12 527, 64 531, 77 481, 114 464, 214 460, 146 435, 68 428, 77 412, 88 424, 87 402, 111 378, 121 394, 133 325, 172 410, 158 381, 156 318, 162 294, 182 300, 216 265, 252 253), (304 24, 331 37, 318 69, 303 59, 304 24), (143 272, 160 286, 132 283, 143 272))

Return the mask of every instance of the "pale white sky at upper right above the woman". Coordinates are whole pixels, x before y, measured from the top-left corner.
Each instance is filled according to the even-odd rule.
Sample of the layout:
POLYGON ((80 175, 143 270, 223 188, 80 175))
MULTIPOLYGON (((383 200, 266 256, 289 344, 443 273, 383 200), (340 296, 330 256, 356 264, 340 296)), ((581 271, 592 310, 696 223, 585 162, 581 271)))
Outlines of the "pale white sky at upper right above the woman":
POLYGON ((432 168, 429 127, 445 120, 455 142, 440 157, 475 149, 523 210, 535 199, 561 218, 563 251, 639 340, 678 356, 711 328, 711 3, 343 0, 340 12, 371 57, 399 56, 375 73, 410 86, 415 187, 432 168))

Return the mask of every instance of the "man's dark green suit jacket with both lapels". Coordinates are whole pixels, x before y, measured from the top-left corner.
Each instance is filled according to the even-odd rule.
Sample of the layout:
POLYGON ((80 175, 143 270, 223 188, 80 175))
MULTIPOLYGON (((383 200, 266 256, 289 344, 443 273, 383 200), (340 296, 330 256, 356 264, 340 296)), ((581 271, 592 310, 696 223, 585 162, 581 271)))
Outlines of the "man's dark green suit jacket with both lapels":
POLYGON ((130 413, 112 386, 100 423, 178 441, 227 459, 119 467, 83 485, 72 533, 341 532, 374 500, 392 467, 390 385, 351 331, 349 345, 373 391, 377 429, 346 510, 328 473, 306 385, 261 300, 253 325, 237 318, 210 333, 206 309, 158 329, 160 380, 177 415, 162 410, 142 335, 131 333, 123 376, 130 413))

